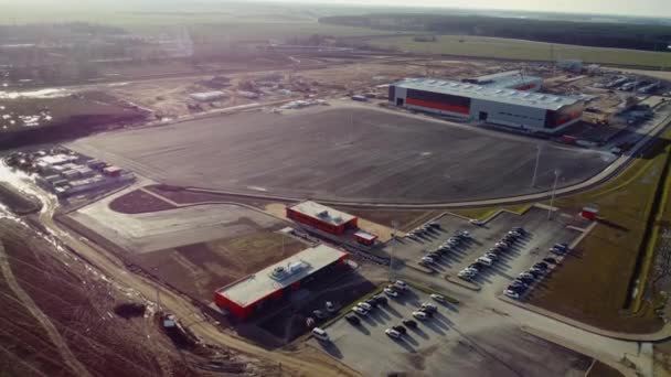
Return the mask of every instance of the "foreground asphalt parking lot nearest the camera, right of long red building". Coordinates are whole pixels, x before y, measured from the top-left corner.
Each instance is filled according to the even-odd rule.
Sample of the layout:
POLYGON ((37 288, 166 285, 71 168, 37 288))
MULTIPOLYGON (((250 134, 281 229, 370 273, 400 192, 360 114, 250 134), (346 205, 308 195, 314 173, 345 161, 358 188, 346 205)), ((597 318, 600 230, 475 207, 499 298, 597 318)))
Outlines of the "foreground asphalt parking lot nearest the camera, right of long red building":
POLYGON ((440 304, 413 288, 359 317, 360 325, 342 317, 328 326, 330 342, 308 343, 366 376, 582 376, 589 365, 587 357, 528 335, 499 315, 440 304), (385 334, 413 319, 423 302, 438 306, 433 317, 415 320, 417 328, 400 338, 385 334))

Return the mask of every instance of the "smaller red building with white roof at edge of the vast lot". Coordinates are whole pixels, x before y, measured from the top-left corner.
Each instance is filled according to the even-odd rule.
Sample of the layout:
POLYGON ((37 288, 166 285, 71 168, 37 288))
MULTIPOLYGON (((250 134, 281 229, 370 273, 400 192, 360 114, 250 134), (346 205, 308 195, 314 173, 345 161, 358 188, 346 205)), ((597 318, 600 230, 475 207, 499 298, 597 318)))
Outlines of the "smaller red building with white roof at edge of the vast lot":
POLYGON ((287 217, 333 235, 356 229, 356 216, 311 201, 287 207, 287 217))

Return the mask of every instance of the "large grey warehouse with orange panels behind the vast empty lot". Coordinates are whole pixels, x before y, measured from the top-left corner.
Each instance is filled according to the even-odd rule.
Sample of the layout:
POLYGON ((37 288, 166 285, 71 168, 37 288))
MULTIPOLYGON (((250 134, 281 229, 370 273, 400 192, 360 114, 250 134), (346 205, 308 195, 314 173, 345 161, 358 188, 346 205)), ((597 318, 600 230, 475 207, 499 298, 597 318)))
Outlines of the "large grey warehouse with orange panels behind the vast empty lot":
MULTIPOLYGON (((471 82, 411 78, 392 84, 388 100, 413 110, 505 126, 528 132, 555 133, 582 119, 583 101, 579 99, 504 88, 501 83, 507 80, 493 82, 499 84, 479 85, 471 82)), ((510 83, 513 86, 519 84, 514 80, 510 83)))

